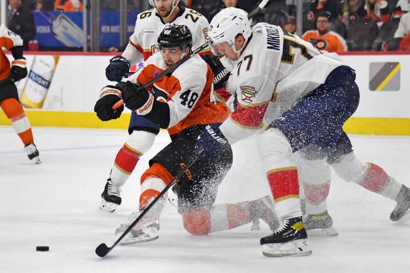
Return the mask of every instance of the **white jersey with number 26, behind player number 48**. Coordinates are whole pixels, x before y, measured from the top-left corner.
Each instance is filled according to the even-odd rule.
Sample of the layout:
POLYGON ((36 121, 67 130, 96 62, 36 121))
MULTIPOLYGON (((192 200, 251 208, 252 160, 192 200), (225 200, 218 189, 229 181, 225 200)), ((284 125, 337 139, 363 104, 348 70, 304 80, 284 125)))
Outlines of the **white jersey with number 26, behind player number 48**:
MULTIPOLYGON (((131 66, 148 59, 155 53, 157 38, 162 29, 169 24, 186 25, 192 34, 193 45, 192 50, 207 43, 209 23, 207 18, 193 9, 178 6, 180 11, 176 18, 171 23, 163 23, 162 18, 155 12, 154 9, 139 13, 135 22, 135 30, 131 35, 129 44, 122 53, 122 57, 126 58, 131 66)), ((204 52, 209 49, 204 50, 204 52)))

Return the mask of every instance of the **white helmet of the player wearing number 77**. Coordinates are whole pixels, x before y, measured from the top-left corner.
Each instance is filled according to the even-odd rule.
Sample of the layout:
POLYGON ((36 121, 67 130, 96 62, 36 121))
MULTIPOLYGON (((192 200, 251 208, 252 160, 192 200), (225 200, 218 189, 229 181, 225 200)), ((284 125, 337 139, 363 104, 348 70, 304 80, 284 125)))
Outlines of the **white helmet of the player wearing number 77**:
POLYGON ((242 48, 239 50, 235 49, 235 37, 238 34, 241 34, 245 39, 245 43, 243 44, 245 45, 252 34, 248 13, 233 7, 218 12, 212 19, 208 30, 208 43, 212 52, 215 55, 219 55, 220 53, 214 45, 226 41, 239 56, 239 52, 242 48))

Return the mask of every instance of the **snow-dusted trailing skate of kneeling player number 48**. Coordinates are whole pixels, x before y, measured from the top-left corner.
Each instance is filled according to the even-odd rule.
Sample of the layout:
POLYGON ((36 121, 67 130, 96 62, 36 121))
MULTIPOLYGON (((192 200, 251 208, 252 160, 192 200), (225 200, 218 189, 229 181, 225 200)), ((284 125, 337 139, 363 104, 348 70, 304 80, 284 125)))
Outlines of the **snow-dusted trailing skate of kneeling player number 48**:
POLYGON ((252 220, 252 230, 259 230, 259 219, 269 225, 274 232, 279 226, 278 216, 273 205, 273 198, 269 195, 249 202, 249 217, 252 220))

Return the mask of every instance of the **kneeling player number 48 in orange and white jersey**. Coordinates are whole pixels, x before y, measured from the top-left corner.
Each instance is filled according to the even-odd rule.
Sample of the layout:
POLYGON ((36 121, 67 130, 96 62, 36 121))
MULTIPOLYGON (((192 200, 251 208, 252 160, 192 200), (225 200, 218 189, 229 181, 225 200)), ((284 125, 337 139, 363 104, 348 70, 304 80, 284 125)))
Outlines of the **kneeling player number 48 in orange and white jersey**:
MULTIPOLYGON (((172 74, 156 81, 151 91, 140 88, 187 56, 191 46, 192 36, 188 27, 171 24, 160 33, 158 52, 147 59, 144 67, 115 87, 108 86, 101 91, 100 101, 104 101, 107 96, 120 94, 127 108, 158 124, 160 128, 168 129, 171 136, 172 142, 150 160, 150 168, 141 176, 139 209, 147 207, 173 177, 192 162, 195 158, 194 146, 202 130, 209 124, 220 124, 230 114, 224 103, 215 102, 213 73, 198 55, 184 62, 172 74), (110 89, 112 91, 107 92, 110 89)), ((195 161, 174 185, 173 191, 178 196, 178 212, 182 215, 183 226, 190 234, 207 235, 259 218, 268 219, 267 223, 272 229, 277 226, 273 200, 269 197, 237 204, 214 205, 218 185, 231 165, 232 150, 228 149, 210 160, 195 161)), ((121 243, 157 239, 159 215, 166 199, 159 200, 121 243)), ((140 211, 132 214, 129 220, 132 222, 139 215, 140 211)), ((121 225, 116 235, 124 233, 131 222, 121 225)))

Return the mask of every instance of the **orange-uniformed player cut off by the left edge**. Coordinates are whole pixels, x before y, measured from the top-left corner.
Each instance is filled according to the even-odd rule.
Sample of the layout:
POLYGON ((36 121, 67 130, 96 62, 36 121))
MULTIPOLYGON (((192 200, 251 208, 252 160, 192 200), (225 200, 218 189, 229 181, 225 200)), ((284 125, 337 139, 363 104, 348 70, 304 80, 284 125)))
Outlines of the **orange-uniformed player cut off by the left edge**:
POLYGON ((23 40, 4 26, 0 26, 0 48, 11 51, 14 60, 11 62, 0 51, 0 106, 11 120, 14 131, 22 139, 27 156, 35 163, 41 163, 38 150, 33 142, 30 122, 26 117, 22 104, 18 100, 15 81, 27 76, 26 59, 23 57, 23 40))

